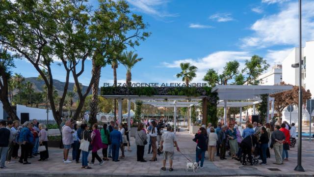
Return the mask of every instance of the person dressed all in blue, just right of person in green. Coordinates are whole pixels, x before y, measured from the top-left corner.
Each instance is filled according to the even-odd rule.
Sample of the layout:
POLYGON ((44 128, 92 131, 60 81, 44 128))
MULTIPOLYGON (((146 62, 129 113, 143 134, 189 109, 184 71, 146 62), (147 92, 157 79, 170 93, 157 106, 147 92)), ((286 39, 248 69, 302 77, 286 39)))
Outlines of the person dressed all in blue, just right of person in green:
POLYGON ((111 141, 111 150, 112 150, 112 161, 119 162, 119 149, 122 145, 122 135, 120 131, 118 131, 118 126, 114 126, 114 130, 110 133, 110 141, 111 141))

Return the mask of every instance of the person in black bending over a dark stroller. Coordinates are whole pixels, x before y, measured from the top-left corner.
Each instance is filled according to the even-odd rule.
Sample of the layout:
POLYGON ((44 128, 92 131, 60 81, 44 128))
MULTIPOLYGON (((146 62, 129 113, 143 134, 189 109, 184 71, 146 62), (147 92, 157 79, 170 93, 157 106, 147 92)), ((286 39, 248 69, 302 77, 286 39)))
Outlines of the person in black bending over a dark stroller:
POLYGON ((250 164, 253 165, 252 162, 252 147, 257 145, 257 137, 256 135, 249 135, 245 137, 241 142, 241 149, 242 149, 242 165, 245 165, 245 157, 248 155, 250 160, 250 164))

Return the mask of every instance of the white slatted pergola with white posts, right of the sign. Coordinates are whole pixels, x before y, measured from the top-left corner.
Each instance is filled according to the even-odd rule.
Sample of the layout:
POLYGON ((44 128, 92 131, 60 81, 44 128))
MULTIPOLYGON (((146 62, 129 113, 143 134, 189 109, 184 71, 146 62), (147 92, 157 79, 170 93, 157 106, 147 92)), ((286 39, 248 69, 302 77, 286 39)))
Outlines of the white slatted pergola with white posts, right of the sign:
POLYGON ((259 101, 257 100, 260 100, 260 95, 262 94, 268 95, 266 122, 269 122, 269 101, 270 100, 271 100, 271 106, 272 106, 271 116, 272 118, 274 116, 274 98, 270 98, 269 95, 274 94, 274 93, 280 93, 280 92, 287 91, 290 89, 292 89, 292 86, 219 85, 212 88, 211 92, 218 93, 218 97, 221 100, 218 104, 218 107, 224 107, 224 123, 226 124, 227 123, 227 107, 240 107, 240 118, 241 118, 242 107, 253 105, 253 114, 255 114, 255 104, 259 103, 259 101), (239 102, 241 100, 244 102, 239 102))

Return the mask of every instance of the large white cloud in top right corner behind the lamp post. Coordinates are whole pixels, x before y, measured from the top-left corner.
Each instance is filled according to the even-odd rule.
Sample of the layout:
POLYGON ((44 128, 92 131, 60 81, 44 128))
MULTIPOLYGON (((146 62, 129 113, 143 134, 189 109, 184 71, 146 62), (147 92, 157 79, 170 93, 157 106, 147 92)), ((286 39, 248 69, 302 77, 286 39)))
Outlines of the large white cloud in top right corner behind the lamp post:
MULTIPOLYGON (((302 6, 302 36, 314 39, 314 1, 304 1, 302 6)), ((279 13, 257 20, 251 29, 254 34, 242 40, 242 47, 270 47, 298 44, 298 2, 285 4, 279 13)))

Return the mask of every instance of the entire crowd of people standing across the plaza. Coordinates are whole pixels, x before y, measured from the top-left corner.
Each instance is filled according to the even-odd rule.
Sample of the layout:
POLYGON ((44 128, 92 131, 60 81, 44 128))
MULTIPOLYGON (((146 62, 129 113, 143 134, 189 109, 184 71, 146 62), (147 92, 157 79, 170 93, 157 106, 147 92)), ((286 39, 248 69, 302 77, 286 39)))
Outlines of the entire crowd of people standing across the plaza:
MULTIPOLYGON (((91 169, 96 163, 95 160, 102 166, 105 161, 118 162, 119 159, 126 158, 125 151, 131 151, 130 130, 126 123, 117 126, 111 121, 109 125, 105 123, 101 127, 95 123, 90 128, 86 123, 78 125, 71 119, 64 119, 61 126, 65 164, 75 161, 81 163, 82 169, 91 169), (72 158, 69 157, 71 149, 72 158), (103 157, 98 154, 100 150, 103 157), (90 151, 92 157, 89 162, 90 151)), ((166 131, 163 131, 164 126, 162 119, 137 124, 137 131, 134 133, 136 157, 138 162, 147 162, 144 159, 144 152, 145 145, 148 144, 148 154, 152 153, 149 161, 157 161, 157 154, 163 153, 161 170, 166 170, 166 161, 169 160, 169 171, 173 171, 174 147, 179 152, 180 148, 172 126, 167 126, 166 131)), ((245 129, 236 122, 229 125, 218 122, 216 128, 209 123, 208 127, 202 126, 193 139, 197 143, 195 151, 197 168, 203 168, 206 151, 209 161, 214 161, 215 156, 220 160, 226 160, 228 152, 231 159, 240 161, 242 165, 246 165, 247 161, 253 165, 253 157, 261 160, 260 165, 266 165, 267 158, 270 158, 270 148, 274 150, 275 164, 282 165, 284 161, 288 161, 288 150, 295 146, 295 138, 294 123, 289 125, 286 121, 280 126, 275 124, 274 127, 269 123, 263 126, 262 122, 252 124, 247 121, 245 129)), ((36 119, 26 121, 23 125, 20 125, 19 121, 0 122, 0 168, 6 168, 5 163, 15 163, 11 159, 18 159, 18 162, 24 165, 30 164, 28 159, 37 155, 38 161, 46 161, 49 158, 48 132, 45 124, 38 123, 36 119), (18 156, 20 147, 21 155, 18 156)))

